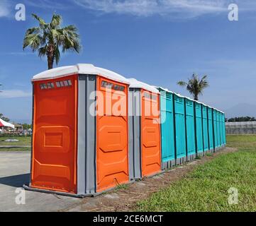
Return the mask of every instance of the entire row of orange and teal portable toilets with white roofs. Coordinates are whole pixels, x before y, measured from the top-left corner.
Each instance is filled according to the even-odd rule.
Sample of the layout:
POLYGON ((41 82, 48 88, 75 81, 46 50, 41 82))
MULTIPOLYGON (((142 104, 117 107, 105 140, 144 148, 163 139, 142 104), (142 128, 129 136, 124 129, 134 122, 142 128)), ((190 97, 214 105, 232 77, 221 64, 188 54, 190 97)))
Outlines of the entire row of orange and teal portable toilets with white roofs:
POLYGON ((94 196, 226 145, 223 112, 113 71, 78 64, 32 83, 32 191, 94 196))

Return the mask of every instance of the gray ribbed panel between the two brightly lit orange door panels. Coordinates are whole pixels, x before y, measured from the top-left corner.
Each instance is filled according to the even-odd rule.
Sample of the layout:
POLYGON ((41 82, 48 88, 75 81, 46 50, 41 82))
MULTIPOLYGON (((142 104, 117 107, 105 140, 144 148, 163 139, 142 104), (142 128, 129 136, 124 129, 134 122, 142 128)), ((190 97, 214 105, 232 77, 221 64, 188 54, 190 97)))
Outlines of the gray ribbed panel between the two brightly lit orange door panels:
POLYGON ((128 101, 128 126, 129 126, 129 177, 131 179, 141 179, 141 101, 140 89, 129 89, 128 101))

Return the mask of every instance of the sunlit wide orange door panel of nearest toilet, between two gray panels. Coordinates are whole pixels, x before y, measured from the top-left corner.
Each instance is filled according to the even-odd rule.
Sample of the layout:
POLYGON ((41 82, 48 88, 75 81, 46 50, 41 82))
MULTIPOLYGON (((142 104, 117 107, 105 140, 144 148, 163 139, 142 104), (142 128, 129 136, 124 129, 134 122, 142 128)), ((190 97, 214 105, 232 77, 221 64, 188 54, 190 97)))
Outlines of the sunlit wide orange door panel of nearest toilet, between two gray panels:
POLYGON ((97 100, 96 131, 96 191, 104 191, 128 182, 128 117, 127 87, 98 77, 97 90, 103 96, 97 100), (106 83, 111 89, 106 93, 106 83), (115 93, 115 90, 123 90, 115 93), (123 108, 118 107, 118 101, 123 108), (110 105, 110 106, 109 106, 110 105), (116 112, 115 112, 116 111, 116 112), (101 115, 101 113, 103 113, 101 115))

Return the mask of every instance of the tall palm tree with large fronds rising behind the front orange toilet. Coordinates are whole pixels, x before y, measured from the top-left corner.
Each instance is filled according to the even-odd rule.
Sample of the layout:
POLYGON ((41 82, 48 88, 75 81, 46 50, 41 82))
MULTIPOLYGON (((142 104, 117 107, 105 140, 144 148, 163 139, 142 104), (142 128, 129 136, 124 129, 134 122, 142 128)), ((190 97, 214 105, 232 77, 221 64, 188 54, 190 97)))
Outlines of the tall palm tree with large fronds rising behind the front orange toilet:
POLYGON ((50 23, 45 23, 45 20, 32 14, 33 18, 38 20, 39 26, 29 28, 23 40, 23 49, 30 47, 33 52, 38 50, 39 57, 48 58, 48 69, 52 69, 53 63, 60 61, 60 47, 62 52, 72 50, 79 53, 81 49, 77 28, 74 25, 69 25, 65 28, 60 28, 62 17, 54 14, 50 23))

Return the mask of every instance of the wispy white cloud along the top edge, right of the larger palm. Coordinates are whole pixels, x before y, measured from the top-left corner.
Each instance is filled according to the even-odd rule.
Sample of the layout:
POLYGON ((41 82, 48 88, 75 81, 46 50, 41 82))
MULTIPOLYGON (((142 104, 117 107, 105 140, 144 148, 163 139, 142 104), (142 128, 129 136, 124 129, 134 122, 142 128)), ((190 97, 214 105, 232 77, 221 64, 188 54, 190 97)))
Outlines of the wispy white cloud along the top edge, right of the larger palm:
MULTIPOLYGON (((204 14, 228 12, 231 0, 73 0, 79 6, 101 13, 131 14, 134 16, 169 16, 194 18, 204 14)), ((255 10, 250 0, 237 0, 239 6, 255 10)))

